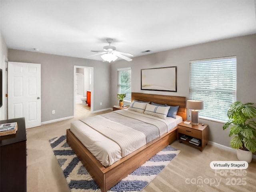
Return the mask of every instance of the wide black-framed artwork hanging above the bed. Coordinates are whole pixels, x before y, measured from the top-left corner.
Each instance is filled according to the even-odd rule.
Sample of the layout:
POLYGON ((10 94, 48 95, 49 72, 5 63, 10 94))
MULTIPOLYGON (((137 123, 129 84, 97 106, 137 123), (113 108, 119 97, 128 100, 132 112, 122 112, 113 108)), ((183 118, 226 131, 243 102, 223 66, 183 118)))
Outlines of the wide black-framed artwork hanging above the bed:
POLYGON ((141 90, 177 92, 177 66, 142 69, 141 90))

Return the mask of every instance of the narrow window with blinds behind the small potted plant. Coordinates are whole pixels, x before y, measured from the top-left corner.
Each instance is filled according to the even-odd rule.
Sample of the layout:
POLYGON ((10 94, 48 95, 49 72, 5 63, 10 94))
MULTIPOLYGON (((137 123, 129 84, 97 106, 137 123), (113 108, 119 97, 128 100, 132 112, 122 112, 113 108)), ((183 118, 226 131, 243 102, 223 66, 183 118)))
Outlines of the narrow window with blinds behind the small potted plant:
POLYGON ((118 72, 118 93, 126 93, 124 101, 131 102, 132 100, 132 75, 131 68, 121 68, 118 72))

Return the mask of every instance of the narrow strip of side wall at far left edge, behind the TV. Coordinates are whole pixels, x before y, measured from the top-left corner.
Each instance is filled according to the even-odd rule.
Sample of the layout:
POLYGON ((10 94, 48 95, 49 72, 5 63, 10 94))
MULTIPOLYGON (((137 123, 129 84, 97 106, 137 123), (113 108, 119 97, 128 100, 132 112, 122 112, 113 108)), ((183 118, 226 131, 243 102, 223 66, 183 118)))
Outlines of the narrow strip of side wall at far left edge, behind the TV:
MULTIPOLYGON (((7 67, 7 58, 8 58, 8 49, 6 46, 6 43, 4 41, 4 38, 2 37, 2 34, 0 32, 0 68, 2 69, 3 72, 3 82, 7 81, 7 72, 6 72, 6 67, 7 67)), ((1 85, 2 86, 2 85, 1 85)), ((3 105, 0 108, 0 120, 7 119, 7 97, 5 94, 7 93, 7 84, 3 84, 3 93, 2 93, 2 98, 3 98, 3 105)))

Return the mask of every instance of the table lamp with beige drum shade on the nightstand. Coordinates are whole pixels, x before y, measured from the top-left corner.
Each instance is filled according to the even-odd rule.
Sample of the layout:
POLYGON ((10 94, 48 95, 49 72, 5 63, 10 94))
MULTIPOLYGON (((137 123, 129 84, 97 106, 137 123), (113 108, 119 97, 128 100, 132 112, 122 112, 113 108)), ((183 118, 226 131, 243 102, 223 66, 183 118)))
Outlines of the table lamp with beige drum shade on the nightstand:
POLYGON ((191 109, 191 124, 198 125, 198 110, 204 109, 204 102, 200 100, 187 100, 187 108, 191 109))

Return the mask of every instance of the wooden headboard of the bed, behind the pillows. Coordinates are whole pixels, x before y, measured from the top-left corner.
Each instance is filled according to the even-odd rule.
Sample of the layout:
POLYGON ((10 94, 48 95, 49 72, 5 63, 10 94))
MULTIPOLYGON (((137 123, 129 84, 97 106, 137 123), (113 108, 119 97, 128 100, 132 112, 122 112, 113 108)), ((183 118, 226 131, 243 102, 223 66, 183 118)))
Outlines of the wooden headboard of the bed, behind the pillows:
POLYGON ((186 114, 186 97, 170 96, 170 95, 157 95, 146 93, 134 93, 132 92, 132 101, 150 101, 158 104, 167 104, 170 106, 180 106, 177 115, 181 116, 183 120, 187 120, 186 114))

